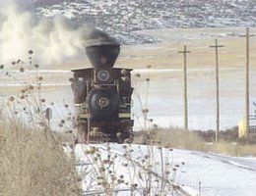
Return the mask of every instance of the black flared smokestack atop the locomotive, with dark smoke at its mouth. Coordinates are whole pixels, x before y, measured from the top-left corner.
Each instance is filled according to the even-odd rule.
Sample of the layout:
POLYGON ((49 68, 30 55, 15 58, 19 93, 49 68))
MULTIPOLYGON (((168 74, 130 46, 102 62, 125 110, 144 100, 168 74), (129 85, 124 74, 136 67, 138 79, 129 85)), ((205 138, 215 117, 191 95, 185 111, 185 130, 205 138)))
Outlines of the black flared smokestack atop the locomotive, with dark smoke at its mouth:
POLYGON ((120 53, 120 44, 114 38, 96 29, 91 34, 86 52, 95 68, 112 68, 120 53))

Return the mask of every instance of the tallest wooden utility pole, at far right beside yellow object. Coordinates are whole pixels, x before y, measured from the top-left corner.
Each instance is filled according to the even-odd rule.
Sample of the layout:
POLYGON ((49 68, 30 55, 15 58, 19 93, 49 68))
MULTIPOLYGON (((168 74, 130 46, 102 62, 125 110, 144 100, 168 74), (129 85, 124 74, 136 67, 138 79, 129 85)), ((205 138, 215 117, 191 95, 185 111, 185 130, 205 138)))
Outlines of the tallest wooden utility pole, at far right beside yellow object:
POLYGON ((250 34, 249 27, 246 28, 246 34, 241 35, 241 37, 246 38, 246 64, 245 64, 245 121, 246 121, 246 131, 245 137, 247 138, 250 130, 250 34))

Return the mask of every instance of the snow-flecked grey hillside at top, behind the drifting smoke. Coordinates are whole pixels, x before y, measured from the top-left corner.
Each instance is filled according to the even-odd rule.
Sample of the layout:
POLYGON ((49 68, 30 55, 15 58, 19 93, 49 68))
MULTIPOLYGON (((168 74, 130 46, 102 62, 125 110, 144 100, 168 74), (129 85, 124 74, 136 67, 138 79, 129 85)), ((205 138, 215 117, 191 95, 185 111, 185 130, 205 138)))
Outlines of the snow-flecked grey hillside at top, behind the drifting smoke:
POLYGON ((158 41, 134 34, 137 30, 256 25, 252 0, 34 0, 34 4, 40 17, 63 15, 78 24, 94 24, 126 44, 158 41))

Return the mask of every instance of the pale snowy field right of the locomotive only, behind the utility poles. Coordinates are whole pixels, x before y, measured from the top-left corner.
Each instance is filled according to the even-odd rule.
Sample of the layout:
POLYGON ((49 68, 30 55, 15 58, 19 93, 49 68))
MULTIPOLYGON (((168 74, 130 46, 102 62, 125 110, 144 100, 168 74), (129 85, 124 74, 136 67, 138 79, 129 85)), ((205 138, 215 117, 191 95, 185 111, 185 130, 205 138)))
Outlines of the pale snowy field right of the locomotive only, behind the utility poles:
MULTIPOLYGON (((183 71, 154 70, 134 71, 153 77, 150 81, 148 105, 149 119, 159 126, 182 126, 183 124, 183 71), (154 77, 158 74, 159 78, 154 77)), ((256 71, 251 72, 250 114, 254 115, 256 102, 256 71)), ((221 128, 229 128, 244 117, 244 73, 242 69, 224 68, 220 70, 220 103, 221 128)), ((135 81, 136 81, 135 77, 135 81)), ((136 86, 146 103, 147 82, 144 79, 136 81, 136 86)), ((188 114, 191 129, 215 129, 216 118, 216 86, 215 68, 193 68, 188 70, 188 114)), ((136 93, 134 100, 138 100, 136 93)), ((140 106, 134 105, 134 114, 140 114, 140 106)), ((143 123, 142 123, 143 124, 143 123)), ((138 124, 140 125, 140 124, 138 124)), ((152 124, 151 124, 152 125, 152 124)))

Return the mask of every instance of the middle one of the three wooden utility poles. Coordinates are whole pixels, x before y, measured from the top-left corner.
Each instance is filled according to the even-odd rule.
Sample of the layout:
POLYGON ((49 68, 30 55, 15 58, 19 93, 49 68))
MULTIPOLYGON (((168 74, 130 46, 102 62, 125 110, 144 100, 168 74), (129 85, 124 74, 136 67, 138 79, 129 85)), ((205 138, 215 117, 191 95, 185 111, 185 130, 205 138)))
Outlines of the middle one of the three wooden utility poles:
POLYGON ((210 48, 215 48, 216 57, 216 135, 215 141, 219 142, 219 132, 220 132, 220 85, 219 85, 219 48, 224 47, 224 45, 218 45, 218 39, 215 40, 215 45, 210 46, 210 48))

